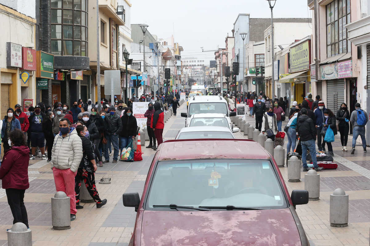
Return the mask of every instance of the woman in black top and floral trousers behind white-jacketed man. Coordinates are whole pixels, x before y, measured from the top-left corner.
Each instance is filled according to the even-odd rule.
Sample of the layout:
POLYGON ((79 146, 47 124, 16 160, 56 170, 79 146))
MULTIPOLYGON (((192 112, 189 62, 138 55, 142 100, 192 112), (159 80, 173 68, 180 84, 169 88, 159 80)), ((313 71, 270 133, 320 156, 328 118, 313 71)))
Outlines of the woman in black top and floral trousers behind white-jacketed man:
POLYGON ((95 185, 95 171, 98 169, 94 155, 95 146, 89 139, 89 131, 86 126, 77 126, 76 131, 78 136, 81 138, 83 149, 83 157, 81 159, 80 166, 78 166, 77 174, 74 178, 76 209, 84 208, 84 206, 80 205, 80 189, 82 180, 84 181, 91 198, 96 202, 96 207, 101 208, 107 204, 107 199, 100 199, 95 185))

